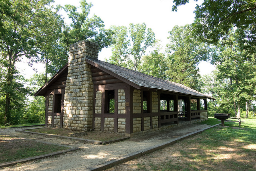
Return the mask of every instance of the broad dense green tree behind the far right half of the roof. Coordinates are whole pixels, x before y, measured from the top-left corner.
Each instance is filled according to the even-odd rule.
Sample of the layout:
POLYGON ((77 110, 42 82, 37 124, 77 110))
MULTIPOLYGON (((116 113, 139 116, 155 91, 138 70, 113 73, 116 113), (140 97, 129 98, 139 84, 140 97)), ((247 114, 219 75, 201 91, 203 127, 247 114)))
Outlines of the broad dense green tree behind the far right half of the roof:
POLYGON ((169 34, 170 44, 166 45, 168 78, 172 82, 199 90, 200 74, 197 65, 209 58, 210 47, 196 39, 188 24, 174 26, 169 34))

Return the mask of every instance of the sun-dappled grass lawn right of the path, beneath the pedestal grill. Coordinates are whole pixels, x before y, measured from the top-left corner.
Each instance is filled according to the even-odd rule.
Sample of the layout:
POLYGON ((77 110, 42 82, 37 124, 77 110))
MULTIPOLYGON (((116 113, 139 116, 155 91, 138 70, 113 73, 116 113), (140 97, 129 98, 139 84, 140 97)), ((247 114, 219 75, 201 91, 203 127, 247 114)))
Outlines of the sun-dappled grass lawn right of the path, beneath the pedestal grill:
MULTIPOLYGON (((226 122, 154 153, 116 165, 108 171, 255 171, 256 119, 226 122)), ((220 123, 210 118, 202 124, 220 123)))

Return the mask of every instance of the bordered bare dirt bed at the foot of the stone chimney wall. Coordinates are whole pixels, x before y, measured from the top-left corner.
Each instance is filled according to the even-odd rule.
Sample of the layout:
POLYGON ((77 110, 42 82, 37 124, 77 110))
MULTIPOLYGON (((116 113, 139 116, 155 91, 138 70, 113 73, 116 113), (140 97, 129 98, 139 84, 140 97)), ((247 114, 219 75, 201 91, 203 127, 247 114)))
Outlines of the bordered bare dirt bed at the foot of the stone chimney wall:
POLYGON ((78 137, 83 139, 92 139, 96 141, 109 141, 118 138, 125 137, 124 134, 119 133, 111 133, 111 132, 102 132, 102 131, 71 131, 58 127, 45 127, 38 129, 29 129, 26 131, 31 132, 40 132, 40 133, 48 133, 53 135, 62 135, 62 136, 70 136, 70 137, 78 137))

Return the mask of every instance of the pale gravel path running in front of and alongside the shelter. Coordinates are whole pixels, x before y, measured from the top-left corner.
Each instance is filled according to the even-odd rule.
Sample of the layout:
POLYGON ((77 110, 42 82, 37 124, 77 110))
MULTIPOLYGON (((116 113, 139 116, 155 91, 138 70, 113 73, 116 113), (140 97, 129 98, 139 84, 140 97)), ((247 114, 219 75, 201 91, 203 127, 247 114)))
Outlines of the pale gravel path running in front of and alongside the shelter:
POLYGON ((123 155, 170 141, 173 138, 180 137, 208 126, 209 125, 200 125, 196 123, 182 125, 180 127, 174 127, 164 131, 136 135, 131 139, 108 145, 96 145, 92 143, 83 143, 81 141, 72 141, 69 139, 15 131, 16 129, 21 128, 1 128, 0 135, 38 139, 40 141, 79 147, 80 150, 46 159, 39 159, 10 167, 4 167, 1 168, 0 171, 82 171, 88 167, 93 167, 106 161, 119 158, 123 155))

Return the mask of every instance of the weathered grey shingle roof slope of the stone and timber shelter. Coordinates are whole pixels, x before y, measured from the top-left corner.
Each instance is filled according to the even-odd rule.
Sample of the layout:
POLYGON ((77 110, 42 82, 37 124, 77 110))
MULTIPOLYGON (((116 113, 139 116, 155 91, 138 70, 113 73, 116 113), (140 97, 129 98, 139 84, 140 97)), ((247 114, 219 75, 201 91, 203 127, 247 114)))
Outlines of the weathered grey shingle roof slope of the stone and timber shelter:
POLYGON ((170 82, 160 78, 156 78, 153 76, 149 76, 141 72, 137 72, 124 67, 109 64, 107 62, 103 62, 100 60, 97 61, 97 60, 87 59, 86 61, 89 62, 90 64, 92 63, 95 64, 94 66, 96 67, 100 66, 100 68, 104 68, 109 72, 113 73, 114 75, 119 76, 125 80, 128 80, 128 84, 130 82, 138 85, 141 88, 142 87, 152 88, 152 89, 165 90, 165 91, 171 91, 175 93, 182 93, 187 95, 194 95, 194 96, 214 99, 208 95, 200 93, 199 91, 186 87, 185 85, 182 85, 182 84, 178 84, 178 83, 170 82))

